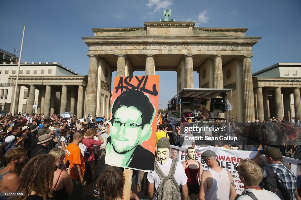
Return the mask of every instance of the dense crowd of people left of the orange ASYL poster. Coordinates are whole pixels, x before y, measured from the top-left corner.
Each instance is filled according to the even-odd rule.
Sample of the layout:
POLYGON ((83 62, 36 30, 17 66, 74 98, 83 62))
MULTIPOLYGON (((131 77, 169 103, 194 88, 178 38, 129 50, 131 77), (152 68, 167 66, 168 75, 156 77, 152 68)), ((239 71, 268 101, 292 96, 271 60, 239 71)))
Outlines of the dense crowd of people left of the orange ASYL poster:
POLYGON ((98 160, 105 162, 109 122, 105 117, 76 119, 44 114, 0 119, 0 199, 95 199, 98 160), (68 162, 67 162, 68 161, 68 162), (67 166, 66 166, 67 165, 67 166), (83 194, 86 196, 83 197, 83 194))

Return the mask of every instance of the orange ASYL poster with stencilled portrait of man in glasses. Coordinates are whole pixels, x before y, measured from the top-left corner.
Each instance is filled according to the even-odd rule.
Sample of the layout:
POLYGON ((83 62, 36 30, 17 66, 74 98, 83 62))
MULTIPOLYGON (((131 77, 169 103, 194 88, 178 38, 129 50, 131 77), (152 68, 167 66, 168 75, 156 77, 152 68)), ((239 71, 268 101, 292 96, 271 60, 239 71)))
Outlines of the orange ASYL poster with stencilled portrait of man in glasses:
POLYGON ((106 164, 154 171, 159 75, 115 77, 106 164))

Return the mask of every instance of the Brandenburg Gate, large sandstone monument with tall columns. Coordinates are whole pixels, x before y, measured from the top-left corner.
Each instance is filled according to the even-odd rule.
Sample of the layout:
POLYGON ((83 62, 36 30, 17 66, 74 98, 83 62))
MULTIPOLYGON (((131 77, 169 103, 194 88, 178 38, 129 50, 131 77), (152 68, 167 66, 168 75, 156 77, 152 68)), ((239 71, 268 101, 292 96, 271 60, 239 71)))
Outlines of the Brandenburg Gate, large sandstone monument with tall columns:
MULTIPOLYGON (((183 88, 233 88, 231 115, 254 121, 251 71, 252 46, 260 37, 246 37, 247 28, 198 28, 194 22, 145 22, 144 27, 93 28, 82 37, 90 58, 85 116, 109 113, 111 77, 177 72, 177 91, 183 88), (194 77, 193 72, 199 73, 194 77), (199 85, 194 85, 194 79, 199 85)), ((170 94, 171 97, 175 94, 170 94)), ((166 102, 167 103, 167 102, 166 102)), ((108 116, 108 115, 106 115, 108 116)))

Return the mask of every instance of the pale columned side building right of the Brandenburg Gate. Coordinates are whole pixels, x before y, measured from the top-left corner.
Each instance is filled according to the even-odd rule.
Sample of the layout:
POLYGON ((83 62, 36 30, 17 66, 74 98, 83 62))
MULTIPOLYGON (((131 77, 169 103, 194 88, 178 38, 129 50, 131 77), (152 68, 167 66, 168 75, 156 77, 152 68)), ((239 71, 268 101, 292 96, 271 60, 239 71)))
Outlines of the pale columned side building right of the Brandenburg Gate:
POLYGON ((277 63, 253 73, 255 116, 301 119, 301 63, 277 63))

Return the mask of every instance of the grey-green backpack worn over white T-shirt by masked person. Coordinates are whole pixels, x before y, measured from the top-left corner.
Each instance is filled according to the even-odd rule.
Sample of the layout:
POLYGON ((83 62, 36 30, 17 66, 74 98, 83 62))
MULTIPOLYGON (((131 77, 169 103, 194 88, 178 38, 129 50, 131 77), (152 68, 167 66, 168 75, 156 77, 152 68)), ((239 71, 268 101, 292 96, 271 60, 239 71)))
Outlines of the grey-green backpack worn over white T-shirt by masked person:
POLYGON ((155 172, 157 172, 161 180, 156 200, 181 200, 180 186, 174 177, 177 162, 176 159, 172 160, 168 176, 165 176, 158 163, 155 163, 155 172))

